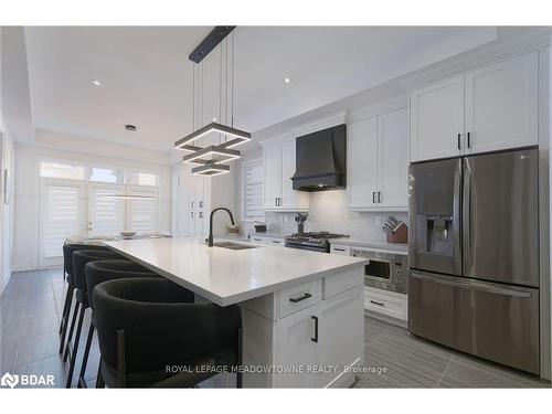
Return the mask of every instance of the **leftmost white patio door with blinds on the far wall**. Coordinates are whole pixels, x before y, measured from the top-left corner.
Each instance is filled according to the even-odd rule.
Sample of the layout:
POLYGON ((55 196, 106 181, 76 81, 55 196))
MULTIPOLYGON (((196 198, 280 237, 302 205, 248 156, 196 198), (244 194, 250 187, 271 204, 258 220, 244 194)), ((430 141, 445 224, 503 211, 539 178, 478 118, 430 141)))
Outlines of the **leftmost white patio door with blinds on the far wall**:
POLYGON ((86 234, 83 181, 41 179, 39 265, 63 263, 65 237, 86 234))

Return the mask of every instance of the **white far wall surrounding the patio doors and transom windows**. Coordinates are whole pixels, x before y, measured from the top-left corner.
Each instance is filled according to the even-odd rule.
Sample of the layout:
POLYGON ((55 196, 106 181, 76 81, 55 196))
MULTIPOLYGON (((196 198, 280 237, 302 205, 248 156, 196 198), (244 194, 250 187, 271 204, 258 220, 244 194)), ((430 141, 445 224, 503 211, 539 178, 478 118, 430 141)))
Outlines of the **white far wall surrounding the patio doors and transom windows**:
POLYGON ((36 268, 39 264, 38 161, 40 158, 66 159, 86 164, 157 172, 159 174, 159 230, 170 231, 171 177, 168 153, 38 131, 36 145, 18 144, 15 146, 13 270, 36 268))

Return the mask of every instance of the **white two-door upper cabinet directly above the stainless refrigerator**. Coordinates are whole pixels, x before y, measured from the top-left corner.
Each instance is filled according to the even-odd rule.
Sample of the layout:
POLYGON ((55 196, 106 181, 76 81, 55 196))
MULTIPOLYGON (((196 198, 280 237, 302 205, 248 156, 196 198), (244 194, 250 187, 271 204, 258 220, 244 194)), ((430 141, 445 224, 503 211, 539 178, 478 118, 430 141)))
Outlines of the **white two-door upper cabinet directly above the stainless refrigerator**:
POLYGON ((411 161, 538 145, 539 54, 411 93, 411 161))

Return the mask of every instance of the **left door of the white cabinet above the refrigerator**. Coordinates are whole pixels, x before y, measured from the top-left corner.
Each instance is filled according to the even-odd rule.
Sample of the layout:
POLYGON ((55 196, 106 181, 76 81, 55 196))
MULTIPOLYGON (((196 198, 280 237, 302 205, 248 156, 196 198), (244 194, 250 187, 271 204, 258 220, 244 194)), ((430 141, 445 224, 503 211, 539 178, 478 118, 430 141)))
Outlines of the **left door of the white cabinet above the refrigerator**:
POLYGON ((464 76, 412 92, 411 161, 456 157, 463 148, 464 76))

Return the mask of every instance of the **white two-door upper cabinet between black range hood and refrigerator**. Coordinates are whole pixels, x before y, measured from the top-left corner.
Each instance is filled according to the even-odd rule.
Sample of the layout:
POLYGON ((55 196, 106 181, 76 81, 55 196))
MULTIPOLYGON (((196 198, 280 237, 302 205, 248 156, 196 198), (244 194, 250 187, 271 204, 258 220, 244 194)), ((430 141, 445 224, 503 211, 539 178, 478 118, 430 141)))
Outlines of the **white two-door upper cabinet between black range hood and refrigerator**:
POLYGON ((347 127, 348 208, 407 208, 408 113, 401 108, 347 127))

